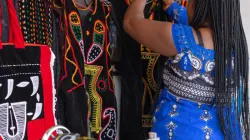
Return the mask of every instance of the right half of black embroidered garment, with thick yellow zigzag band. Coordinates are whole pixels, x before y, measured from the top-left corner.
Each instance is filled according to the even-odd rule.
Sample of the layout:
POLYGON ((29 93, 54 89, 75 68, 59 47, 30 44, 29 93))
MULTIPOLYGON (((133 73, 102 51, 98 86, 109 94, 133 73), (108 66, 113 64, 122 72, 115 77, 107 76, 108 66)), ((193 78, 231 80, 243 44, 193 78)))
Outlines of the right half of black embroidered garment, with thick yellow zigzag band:
POLYGON ((82 22, 85 87, 90 99, 90 130, 94 138, 114 140, 117 133, 117 106, 111 75, 112 53, 109 43, 110 8, 112 7, 104 0, 93 0, 92 6, 92 14, 85 17, 82 22))

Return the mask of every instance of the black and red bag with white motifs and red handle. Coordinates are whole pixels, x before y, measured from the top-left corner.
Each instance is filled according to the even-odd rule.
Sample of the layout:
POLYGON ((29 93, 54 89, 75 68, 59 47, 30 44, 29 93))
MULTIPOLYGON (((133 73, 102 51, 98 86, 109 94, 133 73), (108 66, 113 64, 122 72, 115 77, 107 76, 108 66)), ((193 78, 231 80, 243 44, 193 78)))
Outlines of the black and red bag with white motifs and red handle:
POLYGON ((54 55, 48 46, 25 44, 12 0, 7 8, 9 43, 0 42, 0 139, 37 140, 57 123, 54 55))

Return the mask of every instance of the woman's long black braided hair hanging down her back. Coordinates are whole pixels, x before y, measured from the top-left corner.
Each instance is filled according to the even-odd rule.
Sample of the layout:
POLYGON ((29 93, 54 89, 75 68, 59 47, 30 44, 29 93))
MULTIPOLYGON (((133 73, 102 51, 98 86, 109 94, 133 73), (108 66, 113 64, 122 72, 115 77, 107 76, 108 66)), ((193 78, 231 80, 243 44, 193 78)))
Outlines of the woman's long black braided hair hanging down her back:
POLYGON ((196 0, 191 26, 207 20, 215 46, 215 104, 225 139, 249 140, 248 47, 240 0, 196 0))

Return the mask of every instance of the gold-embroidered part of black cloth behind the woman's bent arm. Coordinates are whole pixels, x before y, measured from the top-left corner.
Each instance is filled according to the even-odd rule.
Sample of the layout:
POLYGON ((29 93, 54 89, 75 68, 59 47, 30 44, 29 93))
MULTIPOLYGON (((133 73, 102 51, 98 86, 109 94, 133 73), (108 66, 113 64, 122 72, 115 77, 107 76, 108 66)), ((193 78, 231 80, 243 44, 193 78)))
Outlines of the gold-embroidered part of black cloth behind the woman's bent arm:
MULTIPOLYGON (((126 0, 127 5, 129 6, 131 0, 126 0)), ((154 0, 148 0, 144 15, 149 20, 159 20, 159 16, 155 11, 152 11, 152 9, 157 5, 158 3, 154 0), (150 13, 150 14, 149 14, 150 13), (149 14, 149 15, 148 15, 149 14)), ((141 56, 141 81, 142 81, 142 99, 141 99, 141 107, 142 107, 142 128, 143 128, 143 136, 146 137, 148 132, 150 132, 150 129, 152 127, 152 114, 154 111, 154 105, 155 105, 155 97, 158 96, 160 93, 159 91, 159 85, 157 83, 157 78, 161 76, 160 70, 161 67, 157 67, 158 59, 160 57, 160 54, 155 53, 147 48, 147 46, 144 46, 142 44, 134 47, 140 48, 140 56, 141 56), (159 75, 160 74, 160 75, 159 75)))

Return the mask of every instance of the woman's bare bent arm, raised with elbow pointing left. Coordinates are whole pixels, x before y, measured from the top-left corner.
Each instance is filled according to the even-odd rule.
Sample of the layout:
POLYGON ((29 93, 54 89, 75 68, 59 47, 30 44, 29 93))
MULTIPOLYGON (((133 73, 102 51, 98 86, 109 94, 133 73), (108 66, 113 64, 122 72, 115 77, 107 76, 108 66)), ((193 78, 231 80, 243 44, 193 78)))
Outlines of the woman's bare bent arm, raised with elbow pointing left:
POLYGON ((136 41, 165 56, 175 56, 172 23, 144 18, 146 0, 134 0, 126 11, 124 30, 136 41))

